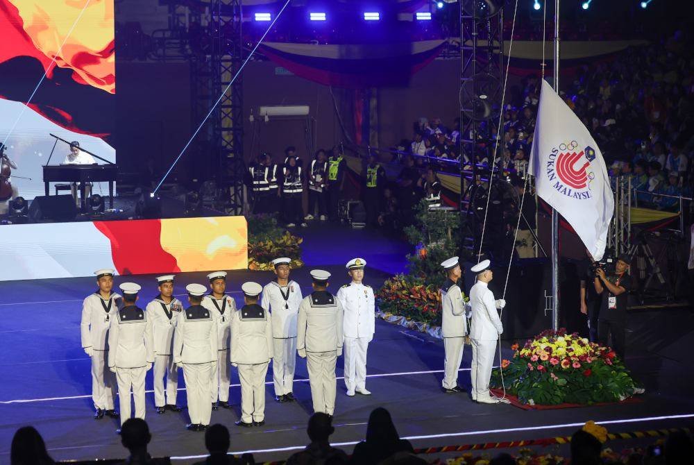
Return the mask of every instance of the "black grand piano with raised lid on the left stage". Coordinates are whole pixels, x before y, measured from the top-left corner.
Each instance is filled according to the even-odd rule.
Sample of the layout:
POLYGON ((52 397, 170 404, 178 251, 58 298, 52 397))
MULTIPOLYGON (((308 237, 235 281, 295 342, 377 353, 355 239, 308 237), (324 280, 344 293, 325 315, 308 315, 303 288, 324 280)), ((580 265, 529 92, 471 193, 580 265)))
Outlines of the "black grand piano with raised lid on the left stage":
MULTIPOLYGON (((51 136, 56 138, 56 144, 58 144, 58 141, 70 144, 70 142, 57 135, 51 134, 51 136)), ((89 153, 92 157, 98 158, 106 162, 106 164, 49 164, 53 151, 56 149, 56 144, 53 144, 48 162, 43 167, 46 196, 49 196, 51 193, 51 183, 82 183, 84 185, 84 183, 108 182, 108 208, 113 208, 113 183, 118 176, 118 165, 81 147, 81 151, 89 153)), ((84 196, 84 192, 81 192, 81 194, 84 196)), ((85 198, 82 198, 82 202, 85 200, 85 198)))

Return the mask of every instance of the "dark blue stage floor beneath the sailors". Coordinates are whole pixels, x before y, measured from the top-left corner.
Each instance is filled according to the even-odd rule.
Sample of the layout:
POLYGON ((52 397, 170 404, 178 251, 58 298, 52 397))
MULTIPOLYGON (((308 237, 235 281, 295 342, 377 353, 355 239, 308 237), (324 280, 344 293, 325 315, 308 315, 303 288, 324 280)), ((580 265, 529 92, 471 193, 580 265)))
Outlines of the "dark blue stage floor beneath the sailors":
MULTIPOLYGON (((329 229, 328 229, 329 230, 329 229)), ((325 231, 324 231, 325 232, 325 231)), ((325 235, 306 232, 307 242, 325 235)), ((391 261, 402 257, 400 246, 388 246, 373 238, 369 252, 359 252, 359 242, 368 233, 349 232, 349 246, 331 248, 325 255, 316 248, 307 251, 310 266, 296 270, 292 278, 309 291, 310 267, 319 264, 334 274, 332 290, 346 282, 344 262, 352 254, 366 255, 379 265, 368 269, 366 282, 378 287, 403 264, 391 261), (380 247, 382 246, 382 247, 380 247), (388 248, 391 247, 391 248, 388 248), (396 248, 393 248, 396 247, 396 248), (346 255, 350 255, 346 257, 346 255)), ((338 235, 335 232, 335 235, 338 235)), ((337 237, 336 237, 337 239, 337 237)), ((340 238, 341 239, 341 238, 340 238)), ((320 240, 320 239, 316 239, 320 240)), ((341 241, 333 244, 341 244, 341 241)), ((326 246, 326 249, 330 248, 326 246)), ((234 271, 228 290, 240 300, 240 283, 255 280, 262 284, 271 273, 234 271)), ((124 278, 117 278, 121 282, 124 278)), ((142 298, 155 294, 152 276, 128 277, 145 285, 142 298)), ((183 294, 189 282, 205 282, 204 273, 178 277, 176 294, 183 294)), ((93 290, 93 278, 0 282, 0 462, 8 462, 12 434, 22 425, 34 425, 43 435, 55 459, 122 458, 126 451, 115 434, 118 424, 110 418, 92 419, 90 360, 80 346, 81 301, 93 290)), ((510 405, 477 405, 467 394, 443 394, 443 344, 428 335, 382 321, 369 346, 367 387, 372 396, 348 398, 344 381, 338 379, 335 434, 332 441, 351 452, 352 444, 364 437, 369 412, 383 406, 390 410, 398 431, 412 438, 415 447, 446 446, 511 439, 534 439, 568 435, 588 420, 602 422, 611 432, 691 425, 694 418, 694 387, 691 353, 694 316, 688 311, 643 311, 630 314, 629 357, 636 376, 645 382, 647 394, 641 403, 583 407, 577 409, 525 412, 510 405), (688 415, 688 417, 686 417, 688 415), (666 418, 680 416, 679 418, 666 418)), ((508 346, 508 344, 505 344, 508 346)), ((507 352, 507 348, 505 351, 507 352)), ((507 357, 507 355, 505 355, 507 357)), ((467 346, 459 382, 469 389, 468 367, 471 350, 467 346)), ((338 360, 341 377, 343 360, 338 360)), ((183 375, 180 374, 178 402, 185 405, 183 375)), ((278 404, 273 398, 271 371, 266 383, 266 424, 262 428, 236 428, 240 389, 232 371, 232 410, 212 412, 212 423, 224 423, 232 433, 231 450, 257 451, 257 460, 286 458, 308 442, 305 428, 311 414, 310 388, 305 360, 299 359, 294 394, 296 403, 278 404)), ((187 432, 187 412, 157 415, 151 394, 151 372, 146 389, 146 420, 153 435, 153 456, 181 457, 178 463, 194 462, 205 453, 203 434, 187 432), (185 457, 185 458, 184 458, 185 457)))

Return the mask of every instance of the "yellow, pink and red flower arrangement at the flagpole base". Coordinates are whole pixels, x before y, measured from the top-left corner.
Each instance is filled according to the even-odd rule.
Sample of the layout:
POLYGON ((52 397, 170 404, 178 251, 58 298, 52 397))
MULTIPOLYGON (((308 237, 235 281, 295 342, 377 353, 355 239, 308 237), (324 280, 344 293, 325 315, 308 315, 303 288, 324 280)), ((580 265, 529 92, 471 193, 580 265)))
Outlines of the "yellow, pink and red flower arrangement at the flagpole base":
POLYGON ((634 394, 634 380, 614 351, 578 333, 546 330, 511 350, 512 359, 492 373, 491 386, 501 387, 503 375, 507 391, 522 403, 591 405, 634 394))

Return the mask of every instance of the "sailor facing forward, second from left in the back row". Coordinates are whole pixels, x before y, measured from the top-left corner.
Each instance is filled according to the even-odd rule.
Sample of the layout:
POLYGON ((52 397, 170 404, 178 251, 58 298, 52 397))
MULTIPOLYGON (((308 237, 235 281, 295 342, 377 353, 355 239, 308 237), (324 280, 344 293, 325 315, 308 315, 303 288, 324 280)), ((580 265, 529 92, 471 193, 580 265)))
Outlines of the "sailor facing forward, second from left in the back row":
POLYGON ((174 331, 183 304, 174 297, 174 275, 158 276, 159 295, 147 304, 147 318, 154 337, 154 405, 157 413, 167 410, 180 412, 176 405, 178 369, 171 352, 174 349, 174 331), (166 378, 166 391, 164 391, 166 378))

